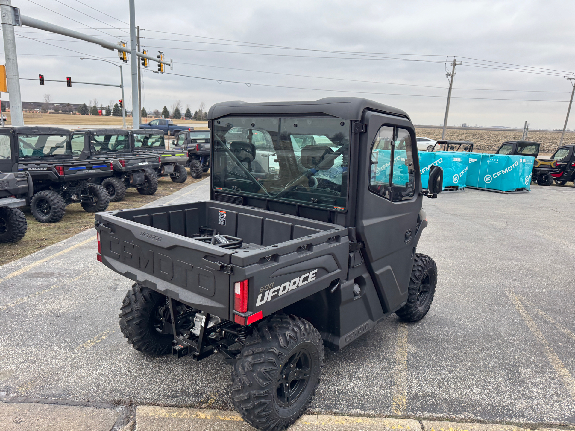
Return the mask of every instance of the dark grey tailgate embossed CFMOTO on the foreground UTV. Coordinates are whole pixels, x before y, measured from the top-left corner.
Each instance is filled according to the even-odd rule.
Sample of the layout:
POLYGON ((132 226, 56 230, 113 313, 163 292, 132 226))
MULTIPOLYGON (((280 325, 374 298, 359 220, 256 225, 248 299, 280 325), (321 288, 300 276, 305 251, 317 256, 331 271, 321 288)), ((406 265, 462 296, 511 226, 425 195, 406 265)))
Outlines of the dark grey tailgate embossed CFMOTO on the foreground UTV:
POLYGON ((229 315, 229 264, 234 251, 148 226, 149 218, 183 218, 183 210, 130 221, 97 214, 101 259, 118 274, 202 311, 229 315))

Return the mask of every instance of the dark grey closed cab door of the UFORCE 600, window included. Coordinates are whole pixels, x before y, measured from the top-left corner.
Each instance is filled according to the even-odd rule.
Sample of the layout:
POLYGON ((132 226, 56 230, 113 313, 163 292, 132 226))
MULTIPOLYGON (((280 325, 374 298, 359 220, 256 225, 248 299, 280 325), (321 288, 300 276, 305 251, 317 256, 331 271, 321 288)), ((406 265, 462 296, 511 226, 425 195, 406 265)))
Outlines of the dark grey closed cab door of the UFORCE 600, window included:
POLYGON ((356 233, 386 312, 407 301, 421 180, 411 121, 367 111, 359 139, 356 233))

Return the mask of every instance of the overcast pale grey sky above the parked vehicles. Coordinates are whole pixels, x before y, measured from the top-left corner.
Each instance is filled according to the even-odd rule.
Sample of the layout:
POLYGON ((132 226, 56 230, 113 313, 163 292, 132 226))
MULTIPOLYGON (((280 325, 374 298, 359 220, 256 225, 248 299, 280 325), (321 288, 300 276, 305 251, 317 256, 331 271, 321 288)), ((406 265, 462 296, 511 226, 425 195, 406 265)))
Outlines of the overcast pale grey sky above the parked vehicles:
MULTIPOLYGON (((12 4, 22 15, 129 45, 127 0, 12 4)), ((229 100, 349 95, 403 109, 415 124, 439 125, 447 97, 446 62, 455 56, 463 64, 457 66, 448 125, 522 127, 527 120, 532 129, 559 129, 572 89, 565 77, 573 76, 575 63, 574 13, 572 0, 137 0, 141 44, 152 55, 163 51, 174 60, 174 70, 167 67, 167 72, 216 79, 154 74, 151 65, 143 73, 143 106, 170 109, 181 99, 193 112, 201 101, 209 107, 229 100)), ((112 64, 79 59, 118 61, 115 52, 25 26, 16 34, 21 78, 41 73, 45 79, 119 82, 112 64)), ((124 64, 129 109, 130 76, 129 63, 124 64)), ((51 82, 41 87, 31 80, 21 80, 21 91, 24 101, 41 101, 50 93, 56 103, 87 104, 95 97, 105 106, 120 98, 119 88, 51 82)), ((568 128, 573 129, 573 113, 568 128)))

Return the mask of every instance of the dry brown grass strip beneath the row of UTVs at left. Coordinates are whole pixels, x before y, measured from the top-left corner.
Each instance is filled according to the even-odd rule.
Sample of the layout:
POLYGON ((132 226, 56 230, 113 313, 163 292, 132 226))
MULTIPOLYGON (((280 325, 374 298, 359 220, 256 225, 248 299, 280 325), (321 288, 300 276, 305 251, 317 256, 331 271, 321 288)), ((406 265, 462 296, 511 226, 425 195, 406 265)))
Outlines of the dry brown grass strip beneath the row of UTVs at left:
MULTIPOLYGON (((209 174, 204 174, 206 178, 209 174)), ((203 179, 202 178, 202 179, 203 179)), ((170 178, 158 179, 158 191, 154 195, 141 195, 133 187, 128 188, 126 197, 120 202, 110 202, 108 210, 120 210, 125 208, 140 207, 145 203, 155 201, 163 196, 170 195, 182 187, 189 186, 201 179, 193 179, 187 176, 185 183, 174 183, 170 178)), ((16 244, 0 244, 0 265, 9 263, 20 257, 28 256, 48 245, 55 244, 74 236, 76 233, 94 227, 94 214, 86 213, 79 203, 72 203, 66 207, 66 216, 57 223, 39 223, 30 213, 30 209, 24 209, 28 230, 26 235, 16 244)))

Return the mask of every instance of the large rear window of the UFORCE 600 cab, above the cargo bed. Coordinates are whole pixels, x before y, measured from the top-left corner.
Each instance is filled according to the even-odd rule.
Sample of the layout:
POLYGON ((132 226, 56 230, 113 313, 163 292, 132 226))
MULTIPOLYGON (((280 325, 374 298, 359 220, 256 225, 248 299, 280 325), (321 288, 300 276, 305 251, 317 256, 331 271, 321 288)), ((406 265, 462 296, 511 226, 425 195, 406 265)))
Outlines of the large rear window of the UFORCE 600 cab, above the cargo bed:
POLYGON ((228 117, 213 132, 215 190, 347 209, 349 121, 228 117))

